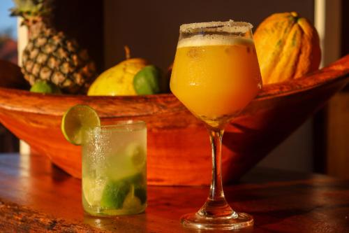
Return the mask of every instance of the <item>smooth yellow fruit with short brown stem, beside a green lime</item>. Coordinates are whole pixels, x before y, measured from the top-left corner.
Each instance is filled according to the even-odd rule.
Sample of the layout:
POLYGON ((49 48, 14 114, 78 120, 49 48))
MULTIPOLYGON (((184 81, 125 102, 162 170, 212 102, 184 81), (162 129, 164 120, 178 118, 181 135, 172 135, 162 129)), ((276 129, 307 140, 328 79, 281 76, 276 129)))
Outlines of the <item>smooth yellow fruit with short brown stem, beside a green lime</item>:
MULTIPOLYGON (((126 48, 126 58, 129 57, 129 50, 126 48)), ((101 73, 89 87, 87 95, 136 95, 133 88, 133 77, 148 62, 145 59, 126 59, 116 66, 101 73)))

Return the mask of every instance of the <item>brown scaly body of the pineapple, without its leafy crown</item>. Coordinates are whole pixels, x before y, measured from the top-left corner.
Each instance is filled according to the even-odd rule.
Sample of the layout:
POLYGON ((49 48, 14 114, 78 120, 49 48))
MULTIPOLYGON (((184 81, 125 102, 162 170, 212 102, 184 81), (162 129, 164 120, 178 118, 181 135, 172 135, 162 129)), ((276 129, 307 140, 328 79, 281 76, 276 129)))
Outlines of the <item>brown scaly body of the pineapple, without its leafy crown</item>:
POLYGON ((29 37, 22 54, 22 73, 31 85, 48 80, 68 94, 86 93, 96 78, 87 50, 63 32, 46 28, 29 37))

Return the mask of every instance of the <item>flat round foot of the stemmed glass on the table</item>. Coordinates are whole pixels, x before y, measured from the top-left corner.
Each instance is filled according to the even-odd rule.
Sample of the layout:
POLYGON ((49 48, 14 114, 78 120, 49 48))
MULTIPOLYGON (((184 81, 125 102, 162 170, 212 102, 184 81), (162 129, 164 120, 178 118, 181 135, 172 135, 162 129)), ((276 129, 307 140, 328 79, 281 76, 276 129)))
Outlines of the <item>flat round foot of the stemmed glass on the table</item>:
POLYGON ((237 230, 253 226, 253 217, 247 213, 233 212, 230 216, 207 217, 199 213, 181 216, 184 227, 202 230, 237 230))

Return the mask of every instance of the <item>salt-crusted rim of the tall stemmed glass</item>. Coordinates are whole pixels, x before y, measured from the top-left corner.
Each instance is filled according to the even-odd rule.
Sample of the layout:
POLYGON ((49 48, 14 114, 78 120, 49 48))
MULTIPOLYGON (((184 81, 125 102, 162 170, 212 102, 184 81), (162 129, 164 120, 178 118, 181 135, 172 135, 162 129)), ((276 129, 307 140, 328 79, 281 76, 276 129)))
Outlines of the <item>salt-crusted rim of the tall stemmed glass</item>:
POLYGON ((246 32, 253 28, 249 22, 238 22, 234 20, 216 22, 193 22, 191 24, 181 24, 179 31, 184 33, 195 32, 198 29, 216 29, 216 31, 226 32, 246 32))

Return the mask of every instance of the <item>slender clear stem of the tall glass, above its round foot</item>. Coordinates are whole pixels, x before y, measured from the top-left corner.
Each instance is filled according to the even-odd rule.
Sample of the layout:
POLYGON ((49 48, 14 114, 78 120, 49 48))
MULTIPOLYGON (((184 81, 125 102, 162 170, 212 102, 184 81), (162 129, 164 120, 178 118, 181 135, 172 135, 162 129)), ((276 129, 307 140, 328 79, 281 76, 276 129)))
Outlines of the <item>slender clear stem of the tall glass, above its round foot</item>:
POLYGON ((212 147, 212 179, 209 197, 198 212, 201 216, 231 216, 232 211, 225 200, 222 185, 222 137, 223 129, 209 129, 209 139, 212 147))

